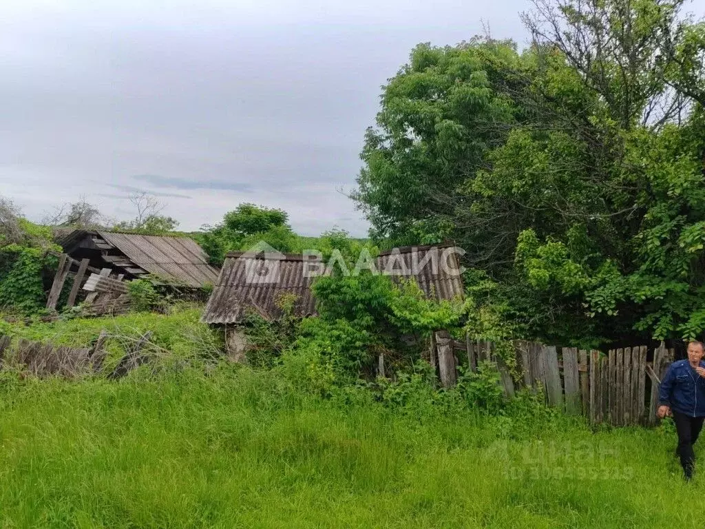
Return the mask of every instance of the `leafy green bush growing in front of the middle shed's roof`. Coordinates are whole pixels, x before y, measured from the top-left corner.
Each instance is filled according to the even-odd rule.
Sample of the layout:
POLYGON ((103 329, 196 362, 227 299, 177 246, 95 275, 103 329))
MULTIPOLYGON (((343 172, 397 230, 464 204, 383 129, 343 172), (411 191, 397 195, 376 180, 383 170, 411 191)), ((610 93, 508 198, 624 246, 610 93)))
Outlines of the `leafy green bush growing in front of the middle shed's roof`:
POLYGON ((330 384, 369 377, 379 353, 389 369, 412 365, 419 350, 407 348, 402 336, 427 338, 439 328, 458 327, 459 301, 427 300, 412 281, 394 284, 389 276, 322 276, 312 286, 318 317, 303 320, 288 351, 302 377, 321 376, 330 384), (300 360, 305 358, 305 360, 300 360))

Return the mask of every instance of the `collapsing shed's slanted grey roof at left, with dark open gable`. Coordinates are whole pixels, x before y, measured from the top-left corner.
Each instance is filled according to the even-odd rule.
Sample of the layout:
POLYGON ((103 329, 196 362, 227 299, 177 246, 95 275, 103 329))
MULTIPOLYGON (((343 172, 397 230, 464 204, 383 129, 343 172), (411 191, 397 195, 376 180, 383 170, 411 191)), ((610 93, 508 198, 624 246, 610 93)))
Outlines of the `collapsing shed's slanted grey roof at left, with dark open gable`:
POLYGON ((114 231, 74 230, 57 241, 74 260, 110 268, 127 279, 153 274, 164 281, 200 288, 215 284, 218 269, 191 238, 114 231))

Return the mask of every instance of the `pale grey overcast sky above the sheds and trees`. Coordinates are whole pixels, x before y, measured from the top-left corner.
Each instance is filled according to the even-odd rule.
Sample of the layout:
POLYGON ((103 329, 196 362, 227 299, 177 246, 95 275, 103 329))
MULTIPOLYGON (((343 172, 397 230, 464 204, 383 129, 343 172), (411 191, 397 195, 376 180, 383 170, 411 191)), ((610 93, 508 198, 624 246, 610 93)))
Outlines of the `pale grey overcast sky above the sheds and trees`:
POLYGON ((348 198, 381 86, 419 42, 525 44, 528 0, 2 0, 0 195, 35 221, 85 197, 180 229, 241 202, 364 236, 348 198))

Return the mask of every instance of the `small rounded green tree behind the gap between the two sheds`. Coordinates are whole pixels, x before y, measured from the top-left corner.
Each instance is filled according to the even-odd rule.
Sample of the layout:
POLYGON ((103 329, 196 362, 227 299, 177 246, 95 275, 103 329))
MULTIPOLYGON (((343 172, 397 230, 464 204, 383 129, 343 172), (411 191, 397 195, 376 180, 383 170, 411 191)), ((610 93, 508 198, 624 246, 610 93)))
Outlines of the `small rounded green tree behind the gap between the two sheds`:
POLYGON ((288 214, 281 209, 240 204, 216 226, 204 226, 201 246, 212 264, 220 266, 231 250, 247 250, 259 241, 281 252, 293 251, 296 235, 287 223, 288 214))

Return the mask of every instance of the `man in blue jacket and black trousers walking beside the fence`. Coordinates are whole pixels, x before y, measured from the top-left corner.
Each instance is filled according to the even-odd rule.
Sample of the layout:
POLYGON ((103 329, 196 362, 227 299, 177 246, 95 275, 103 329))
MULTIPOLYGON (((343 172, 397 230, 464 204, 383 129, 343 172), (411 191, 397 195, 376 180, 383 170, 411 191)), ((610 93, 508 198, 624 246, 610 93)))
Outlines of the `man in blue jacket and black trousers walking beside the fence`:
POLYGON ((658 417, 673 416, 678 432, 676 454, 685 473, 685 479, 693 475, 695 454, 693 445, 698 440, 705 420, 705 354, 703 343, 688 343, 688 359, 678 360, 668 367, 661 381, 658 394, 658 417))

